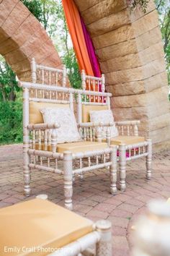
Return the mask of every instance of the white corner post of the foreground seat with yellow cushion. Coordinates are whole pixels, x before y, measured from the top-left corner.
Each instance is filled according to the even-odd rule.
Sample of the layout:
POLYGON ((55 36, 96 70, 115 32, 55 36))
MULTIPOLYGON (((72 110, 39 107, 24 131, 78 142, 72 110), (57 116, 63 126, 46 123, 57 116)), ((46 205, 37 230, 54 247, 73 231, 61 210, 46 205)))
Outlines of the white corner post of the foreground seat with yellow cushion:
POLYGON ((97 221, 96 229, 101 239, 97 242, 97 256, 112 256, 112 224, 109 221, 97 221))

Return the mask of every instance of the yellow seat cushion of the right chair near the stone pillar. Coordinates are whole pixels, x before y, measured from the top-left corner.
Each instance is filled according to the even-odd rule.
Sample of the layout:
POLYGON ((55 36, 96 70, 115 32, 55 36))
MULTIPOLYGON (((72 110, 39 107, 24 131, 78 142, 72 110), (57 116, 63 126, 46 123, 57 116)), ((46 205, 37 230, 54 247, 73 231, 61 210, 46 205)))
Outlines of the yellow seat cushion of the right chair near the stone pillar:
POLYGON ((117 137, 113 137, 111 139, 111 145, 120 145, 120 144, 131 145, 131 144, 136 144, 136 143, 144 142, 144 141, 145 141, 145 137, 117 136, 117 137))

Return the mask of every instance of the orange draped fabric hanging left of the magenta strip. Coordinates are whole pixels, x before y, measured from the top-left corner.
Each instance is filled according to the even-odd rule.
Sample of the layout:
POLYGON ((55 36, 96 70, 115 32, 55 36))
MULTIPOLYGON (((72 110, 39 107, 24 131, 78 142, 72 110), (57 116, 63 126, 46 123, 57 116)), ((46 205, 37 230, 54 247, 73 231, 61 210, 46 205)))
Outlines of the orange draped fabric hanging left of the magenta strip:
POLYGON ((91 67, 91 62, 89 59, 89 54, 86 48, 86 42, 84 39, 84 33, 81 26, 79 10, 77 9, 74 1, 62 0, 62 2, 66 16, 66 21, 68 24, 68 30, 71 35, 73 48, 76 53, 76 58, 78 60, 79 69, 84 69, 86 74, 94 76, 94 72, 91 67))

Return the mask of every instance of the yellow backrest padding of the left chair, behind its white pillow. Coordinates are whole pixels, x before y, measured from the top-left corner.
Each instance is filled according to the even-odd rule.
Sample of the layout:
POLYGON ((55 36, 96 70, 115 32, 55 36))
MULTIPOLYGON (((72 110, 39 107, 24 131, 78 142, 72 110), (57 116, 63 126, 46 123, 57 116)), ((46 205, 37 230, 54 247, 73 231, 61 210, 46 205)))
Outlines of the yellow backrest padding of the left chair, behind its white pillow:
POLYGON ((69 105, 30 101, 30 124, 41 124, 44 122, 40 108, 69 108, 69 105))

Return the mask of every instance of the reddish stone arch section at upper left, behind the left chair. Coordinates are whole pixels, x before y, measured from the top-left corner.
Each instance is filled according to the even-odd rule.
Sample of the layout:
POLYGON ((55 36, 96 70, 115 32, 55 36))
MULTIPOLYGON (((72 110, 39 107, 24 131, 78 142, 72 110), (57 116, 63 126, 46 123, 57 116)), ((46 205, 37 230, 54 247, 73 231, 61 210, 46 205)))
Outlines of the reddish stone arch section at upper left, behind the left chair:
POLYGON ((0 0, 0 54, 20 80, 30 80, 30 61, 61 67, 52 41, 19 0, 0 0))

